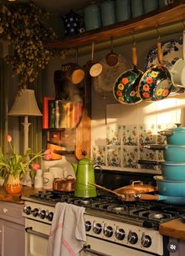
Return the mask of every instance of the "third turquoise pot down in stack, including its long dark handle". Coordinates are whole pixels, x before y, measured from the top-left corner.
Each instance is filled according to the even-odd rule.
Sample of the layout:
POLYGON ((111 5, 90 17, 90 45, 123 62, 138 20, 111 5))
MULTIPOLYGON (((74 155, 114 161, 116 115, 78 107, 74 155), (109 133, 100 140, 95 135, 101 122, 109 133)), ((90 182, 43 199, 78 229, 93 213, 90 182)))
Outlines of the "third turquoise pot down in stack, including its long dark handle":
POLYGON ((138 160, 140 165, 161 165, 161 175, 165 180, 185 180, 185 162, 138 160))

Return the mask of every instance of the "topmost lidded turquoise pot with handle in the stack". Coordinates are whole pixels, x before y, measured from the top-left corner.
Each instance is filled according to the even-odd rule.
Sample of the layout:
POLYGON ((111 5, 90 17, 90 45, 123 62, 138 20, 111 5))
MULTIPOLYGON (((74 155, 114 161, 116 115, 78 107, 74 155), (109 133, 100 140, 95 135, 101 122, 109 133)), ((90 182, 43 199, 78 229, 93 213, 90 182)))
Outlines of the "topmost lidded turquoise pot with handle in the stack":
POLYGON ((180 127, 180 124, 176 125, 176 128, 166 129, 158 133, 166 136, 168 144, 183 146, 185 145, 185 127, 180 127))

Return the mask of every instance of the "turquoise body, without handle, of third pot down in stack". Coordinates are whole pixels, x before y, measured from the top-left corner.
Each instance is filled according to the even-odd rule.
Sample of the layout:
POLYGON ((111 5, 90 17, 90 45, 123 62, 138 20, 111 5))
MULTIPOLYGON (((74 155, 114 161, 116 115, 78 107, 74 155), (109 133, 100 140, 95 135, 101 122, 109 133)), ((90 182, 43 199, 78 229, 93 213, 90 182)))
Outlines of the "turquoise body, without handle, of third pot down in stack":
POLYGON ((165 180, 185 180, 185 162, 161 162, 161 175, 165 180))

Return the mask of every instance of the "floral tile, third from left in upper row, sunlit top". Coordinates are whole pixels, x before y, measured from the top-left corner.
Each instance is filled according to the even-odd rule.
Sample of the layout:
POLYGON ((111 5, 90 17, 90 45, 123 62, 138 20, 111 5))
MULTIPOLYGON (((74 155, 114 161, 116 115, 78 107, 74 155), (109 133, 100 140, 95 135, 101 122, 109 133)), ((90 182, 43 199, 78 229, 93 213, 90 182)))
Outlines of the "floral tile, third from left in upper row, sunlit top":
POLYGON ((139 143, 141 146, 156 143, 156 128, 154 124, 139 125, 139 143))

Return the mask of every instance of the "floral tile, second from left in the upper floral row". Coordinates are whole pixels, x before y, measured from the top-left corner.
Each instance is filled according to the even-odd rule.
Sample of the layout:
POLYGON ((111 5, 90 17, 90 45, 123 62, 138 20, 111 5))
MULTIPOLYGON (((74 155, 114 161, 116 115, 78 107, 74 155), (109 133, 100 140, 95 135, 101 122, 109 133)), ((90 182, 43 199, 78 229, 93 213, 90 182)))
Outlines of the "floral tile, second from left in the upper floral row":
POLYGON ((138 130, 136 125, 123 126, 122 141, 123 145, 137 146, 138 130))

